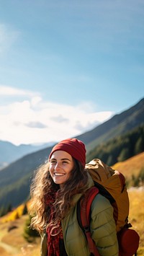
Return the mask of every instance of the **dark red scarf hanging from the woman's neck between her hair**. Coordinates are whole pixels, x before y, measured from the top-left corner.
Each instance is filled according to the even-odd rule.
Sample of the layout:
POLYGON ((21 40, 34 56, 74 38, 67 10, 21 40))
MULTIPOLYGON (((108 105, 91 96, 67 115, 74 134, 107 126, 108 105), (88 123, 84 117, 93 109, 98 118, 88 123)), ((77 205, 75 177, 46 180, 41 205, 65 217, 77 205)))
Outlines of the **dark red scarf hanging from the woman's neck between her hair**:
MULTIPOLYGON (((55 202, 56 193, 52 192, 48 196, 48 206, 50 206, 50 219, 49 222, 54 219, 54 213, 53 213, 53 203, 55 202)), ((60 255, 60 249, 59 249, 59 241, 60 239, 63 239, 63 232, 61 229, 60 222, 58 223, 58 227, 53 229, 52 234, 50 234, 50 231, 53 229, 53 227, 47 228, 47 234, 48 234, 48 256, 59 256, 60 255)))

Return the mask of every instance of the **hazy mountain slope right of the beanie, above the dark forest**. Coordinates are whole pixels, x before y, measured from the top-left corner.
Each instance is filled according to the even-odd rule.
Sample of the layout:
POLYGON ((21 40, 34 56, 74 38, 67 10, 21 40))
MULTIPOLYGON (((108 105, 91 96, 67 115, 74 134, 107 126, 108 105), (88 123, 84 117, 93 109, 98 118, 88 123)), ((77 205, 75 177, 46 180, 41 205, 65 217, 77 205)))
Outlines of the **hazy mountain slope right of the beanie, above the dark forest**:
POLYGON ((76 136, 76 138, 84 141, 86 149, 89 151, 103 141, 105 142, 110 138, 122 135, 141 123, 144 123, 144 98, 136 105, 130 107, 130 109, 114 115, 111 119, 102 123, 102 125, 80 136, 76 136))

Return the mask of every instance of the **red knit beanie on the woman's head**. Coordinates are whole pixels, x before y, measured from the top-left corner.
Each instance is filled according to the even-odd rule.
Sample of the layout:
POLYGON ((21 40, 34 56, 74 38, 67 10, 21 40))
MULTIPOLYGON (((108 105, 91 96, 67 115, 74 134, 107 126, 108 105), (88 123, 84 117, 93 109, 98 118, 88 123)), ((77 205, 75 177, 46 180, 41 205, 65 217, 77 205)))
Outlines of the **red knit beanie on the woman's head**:
POLYGON ((71 154, 73 158, 81 162, 85 167, 86 164, 86 148, 82 141, 79 141, 77 138, 67 138, 66 140, 60 141, 56 144, 52 151, 50 152, 49 159, 51 158, 53 152, 63 150, 68 154, 71 154))

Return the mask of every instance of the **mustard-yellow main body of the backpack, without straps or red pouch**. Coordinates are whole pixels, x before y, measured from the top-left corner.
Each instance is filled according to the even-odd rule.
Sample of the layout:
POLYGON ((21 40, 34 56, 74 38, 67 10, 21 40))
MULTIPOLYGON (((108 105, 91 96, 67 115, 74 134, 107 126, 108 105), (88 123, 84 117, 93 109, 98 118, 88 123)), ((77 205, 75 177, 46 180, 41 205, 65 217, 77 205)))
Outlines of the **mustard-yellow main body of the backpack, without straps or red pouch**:
POLYGON ((128 224, 130 206, 124 175, 99 159, 93 159, 86 164, 85 169, 91 175, 96 187, 99 188, 99 193, 108 198, 112 204, 116 229, 117 232, 120 231, 128 224))

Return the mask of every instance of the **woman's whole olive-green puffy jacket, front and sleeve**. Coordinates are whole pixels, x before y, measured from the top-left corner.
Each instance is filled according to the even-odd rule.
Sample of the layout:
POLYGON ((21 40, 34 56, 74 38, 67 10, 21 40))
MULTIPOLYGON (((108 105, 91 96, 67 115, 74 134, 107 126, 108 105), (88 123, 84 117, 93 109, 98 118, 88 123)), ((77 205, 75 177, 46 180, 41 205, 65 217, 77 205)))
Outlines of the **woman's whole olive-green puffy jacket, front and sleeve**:
MULTIPOLYGON (((89 187, 94 182, 89 176, 89 187)), ((84 232, 77 221, 77 202, 81 194, 73 198, 74 207, 61 221, 63 239, 68 256, 89 256, 89 247, 84 232)), ((91 205, 91 237, 96 243, 99 254, 102 256, 118 256, 118 243, 115 223, 113 219, 113 208, 107 198, 98 194, 91 205)), ((41 256, 47 256, 47 237, 42 235, 41 256)))

